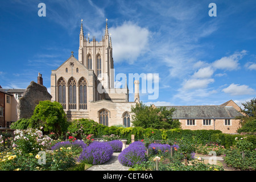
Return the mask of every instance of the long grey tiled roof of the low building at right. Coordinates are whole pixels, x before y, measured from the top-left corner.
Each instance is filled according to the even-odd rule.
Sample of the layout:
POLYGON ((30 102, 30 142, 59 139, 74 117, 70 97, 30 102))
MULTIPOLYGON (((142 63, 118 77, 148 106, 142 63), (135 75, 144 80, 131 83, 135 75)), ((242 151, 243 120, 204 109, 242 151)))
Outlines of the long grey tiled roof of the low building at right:
MULTIPOLYGON (((159 107, 159 106, 158 106, 159 107)), ((172 115, 174 119, 203 119, 203 118, 235 118, 242 116, 232 106, 166 106, 167 109, 175 107, 175 111, 172 115)))

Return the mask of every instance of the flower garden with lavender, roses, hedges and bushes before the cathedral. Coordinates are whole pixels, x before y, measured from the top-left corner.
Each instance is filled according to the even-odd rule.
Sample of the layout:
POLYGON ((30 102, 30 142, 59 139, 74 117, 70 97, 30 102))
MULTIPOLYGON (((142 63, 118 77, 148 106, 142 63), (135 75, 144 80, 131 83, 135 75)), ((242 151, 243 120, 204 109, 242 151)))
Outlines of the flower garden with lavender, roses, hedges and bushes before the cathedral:
MULTIPOLYGON (((247 122, 250 129, 255 122, 247 122)), ((254 134, 170 129, 176 125, 152 129, 108 127, 90 119, 67 121, 58 102, 40 101, 31 118, 11 125, 13 134, 0 131, 0 171, 84 171, 108 162, 114 152, 131 171, 255 171, 254 134), (129 145, 123 150, 122 139, 129 145), (202 155, 221 156, 224 161, 205 162, 202 155)))

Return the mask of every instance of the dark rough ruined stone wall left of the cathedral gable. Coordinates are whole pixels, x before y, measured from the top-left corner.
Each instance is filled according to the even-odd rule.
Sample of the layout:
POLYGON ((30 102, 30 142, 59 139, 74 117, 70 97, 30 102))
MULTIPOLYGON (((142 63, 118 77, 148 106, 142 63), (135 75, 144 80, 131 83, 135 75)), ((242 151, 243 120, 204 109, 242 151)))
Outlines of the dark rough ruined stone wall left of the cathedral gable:
POLYGON ((31 81, 23 96, 19 99, 17 105, 18 119, 30 118, 33 115, 35 106, 39 104, 39 101, 50 101, 51 98, 52 96, 48 93, 45 86, 31 81))

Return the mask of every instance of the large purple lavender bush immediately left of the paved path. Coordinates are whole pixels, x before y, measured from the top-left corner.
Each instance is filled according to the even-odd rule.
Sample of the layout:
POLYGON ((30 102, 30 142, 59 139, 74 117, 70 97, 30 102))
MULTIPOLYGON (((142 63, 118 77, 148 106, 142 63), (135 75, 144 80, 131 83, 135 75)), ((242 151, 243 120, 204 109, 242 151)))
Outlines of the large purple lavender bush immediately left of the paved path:
POLYGON ((81 152, 79 161, 88 164, 102 164, 107 162, 112 154, 113 148, 107 142, 93 142, 81 152))

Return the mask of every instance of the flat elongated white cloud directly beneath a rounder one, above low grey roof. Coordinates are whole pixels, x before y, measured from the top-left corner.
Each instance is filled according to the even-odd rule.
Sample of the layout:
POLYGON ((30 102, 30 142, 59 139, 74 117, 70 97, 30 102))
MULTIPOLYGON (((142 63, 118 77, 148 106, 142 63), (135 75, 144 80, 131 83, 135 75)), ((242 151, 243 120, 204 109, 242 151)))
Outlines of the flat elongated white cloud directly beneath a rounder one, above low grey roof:
POLYGON ((202 89, 207 88, 207 86, 214 82, 213 78, 208 79, 189 79, 184 82, 183 89, 189 90, 189 89, 202 89))

